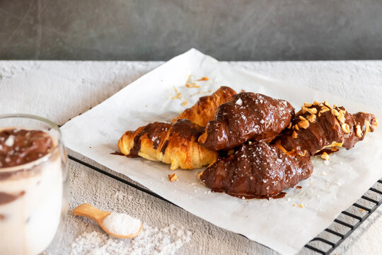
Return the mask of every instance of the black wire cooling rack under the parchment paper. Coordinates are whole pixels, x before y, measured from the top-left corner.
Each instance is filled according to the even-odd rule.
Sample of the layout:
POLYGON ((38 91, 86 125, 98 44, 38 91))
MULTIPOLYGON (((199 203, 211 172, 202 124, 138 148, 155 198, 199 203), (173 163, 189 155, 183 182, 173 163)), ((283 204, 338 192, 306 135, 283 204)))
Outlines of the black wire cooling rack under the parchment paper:
MULTIPOLYGON (((166 198, 159 196, 147 188, 142 188, 137 184, 127 181, 126 179, 122 179, 121 177, 100 169, 97 166, 83 162, 81 159, 77 159, 76 157, 70 155, 69 159, 79 164, 83 164, 90 169, 96 170, 101 174, 105 174, 112 179, 126 183, 132 188, 137 188, 139 191, 175 205, 166 198)), ((369 190, 364 193, 364 196, 361 196, 361 198, 359 198, 359 200, 357 200, 357 202, 354 203, 350 208, 341 212, 340 215, 334 220, 332 225, 330 225, 330 227, 318 234, 317 237, 311 239, 311 241, 308 242, 308 244, 306 244, 303 249, 310 249, 312 251, 316 251, 318 254, 331 254, 332 251, 334 251, 342 242, 344 242, 345 239, 347 239, 347 237, 349 237, 354 232, 354 230, 357 229, 357 227, 359 227, 362 222, 364 222, 378 208, 379 205, 381 205, 381 203, 382 180, 378 180, 374 186, 369 188, 369 190), (325 250, 323 250, 324 248, 325 250)))

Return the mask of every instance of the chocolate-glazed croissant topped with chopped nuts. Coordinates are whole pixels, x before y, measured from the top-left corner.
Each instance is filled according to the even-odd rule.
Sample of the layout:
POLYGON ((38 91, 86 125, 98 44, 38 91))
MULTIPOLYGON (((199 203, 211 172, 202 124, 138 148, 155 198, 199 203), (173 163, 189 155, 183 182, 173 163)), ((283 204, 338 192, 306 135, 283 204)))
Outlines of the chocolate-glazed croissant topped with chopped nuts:
POLYGON ((344 107, 305 103, 276 143, 289 152, 312 156, 323 149, 350 149, 378 126, 370 113, 348 113, 344 107))

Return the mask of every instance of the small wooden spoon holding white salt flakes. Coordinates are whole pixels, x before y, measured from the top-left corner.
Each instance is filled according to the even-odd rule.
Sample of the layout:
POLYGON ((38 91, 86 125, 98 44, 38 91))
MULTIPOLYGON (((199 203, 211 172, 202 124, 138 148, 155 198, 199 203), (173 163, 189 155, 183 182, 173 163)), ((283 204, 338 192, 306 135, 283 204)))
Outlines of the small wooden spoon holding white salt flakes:
POLYGON ((98 225, 100 225, 100 227, 101 227, 101 229, 103 229, 103 231, 105 231, 106 233, 110 234, 113 237, 133 238, 133 237, 137 237, 137 235, 142 231, 142 223, 141 223, 141 227, 139 228, 139 231, 135 234, 120 235, 120 234, 114 234, 114 233, 110 232, 103 225, 103 220, 105 220, 105 217, 108 217, 111 214, 111 212, 99 210, 99 209, 95 208, 93 205, 88 204, 88 203, 84 203, 84 204, 79 205, 76 208, 74 208, 73 214, 87 217, 88 219, 93 220, 93 222, 96 222, 98 225))

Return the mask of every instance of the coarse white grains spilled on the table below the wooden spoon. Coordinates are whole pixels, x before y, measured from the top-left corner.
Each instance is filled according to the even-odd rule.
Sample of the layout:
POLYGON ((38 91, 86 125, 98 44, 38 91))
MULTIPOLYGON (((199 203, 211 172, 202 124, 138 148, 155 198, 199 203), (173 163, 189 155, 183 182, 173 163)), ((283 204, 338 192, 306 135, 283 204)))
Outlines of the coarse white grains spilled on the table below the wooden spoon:
POLYGON ((133 239, 118 239, 96 230, 76 238, 71 245, 71 255, 149 255, 176 254, 178 249, 190 242, 192 233, 175 225, 158 229, 143 225, 142 232, 133 239))

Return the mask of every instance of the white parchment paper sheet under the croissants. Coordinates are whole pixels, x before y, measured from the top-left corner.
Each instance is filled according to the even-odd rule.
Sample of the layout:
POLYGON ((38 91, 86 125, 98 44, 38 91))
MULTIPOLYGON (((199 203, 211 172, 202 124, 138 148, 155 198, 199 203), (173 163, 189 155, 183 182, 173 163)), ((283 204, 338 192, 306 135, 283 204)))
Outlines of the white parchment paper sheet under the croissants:
POLYGON ((110 154, 117 150, 117 141, 126 130, 154 121, 170 121, 199 96, 211 94, 219 86, 286 99, 296 110, 303 102, 326 100, 345 106, 350 113, 366 111, 382 118, 376 109, 239 70, 190 50, 70 120, 61 128, 64 144, 204 220, 281 254, 296 254, 382 176, 381 127, 353 149, 331 154, 329 162, 313 157, 313 175, 299 183, 302 188, 289 188, 287 196, 274 200, 242 200, 211 193, 197 179, 200 169, 176 170, 179 179, 172 183, 168 180, 168 174, 173 174, 169 165, 110 154), (209 80, 197 81, 202 77, 209 80), (187 87, 187 83, 195 87, 187 87))

